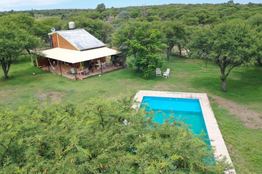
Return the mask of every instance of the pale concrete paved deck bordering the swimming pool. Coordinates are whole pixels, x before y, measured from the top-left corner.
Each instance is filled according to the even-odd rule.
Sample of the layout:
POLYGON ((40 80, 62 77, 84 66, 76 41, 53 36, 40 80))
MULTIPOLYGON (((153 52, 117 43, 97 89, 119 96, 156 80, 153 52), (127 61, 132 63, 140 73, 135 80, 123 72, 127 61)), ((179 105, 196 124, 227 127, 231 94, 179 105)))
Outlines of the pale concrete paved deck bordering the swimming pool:
MULTIPOLYGON (((139 91, 134 99, 138 102, 142 102, 144 96, 148 97, 170 97, 170 98, 191 98, 191 99, 199 99, 200 106, 202 109, 202 113, 205 120, 206 129, 208 131, 208 136, 211 140, 211 145, 216 148, 214 156, 226 156, 227 161, 232 164, 231 158, 228 154, 226 144, 223 140, 222 134, 217 125, 214 113, 210 106, 208 96, 206 93, 184 93, 184 92, 167 92, 167 91, 139 91)), ((234 169, 230 170, 228 173, 236 174, 234 169)))

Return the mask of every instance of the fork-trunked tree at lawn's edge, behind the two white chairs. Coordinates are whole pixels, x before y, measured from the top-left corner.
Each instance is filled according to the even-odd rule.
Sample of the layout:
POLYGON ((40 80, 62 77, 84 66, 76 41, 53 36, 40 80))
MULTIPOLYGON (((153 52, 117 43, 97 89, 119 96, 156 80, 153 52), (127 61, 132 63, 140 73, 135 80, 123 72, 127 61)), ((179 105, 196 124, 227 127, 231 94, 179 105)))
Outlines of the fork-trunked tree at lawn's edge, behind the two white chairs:
POLYGON ((167 44, 167 60, 169 60, 170 53, 174 46, 179 49, 179 55, 182 54, 182 48, 187 43, 188 33, 186 25, 179 21, 166 21, 163 23, 164 42, 167 44))

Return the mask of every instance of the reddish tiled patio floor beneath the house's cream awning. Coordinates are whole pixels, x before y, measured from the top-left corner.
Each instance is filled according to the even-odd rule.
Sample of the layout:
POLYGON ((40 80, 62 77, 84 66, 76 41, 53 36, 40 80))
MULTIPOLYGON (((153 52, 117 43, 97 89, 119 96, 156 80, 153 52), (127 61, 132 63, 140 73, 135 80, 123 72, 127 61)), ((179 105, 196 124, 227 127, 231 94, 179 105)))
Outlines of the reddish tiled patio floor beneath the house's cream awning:
MULTIPOLYGON (((54 66, 55 68, 56 68, 56 65, 57 65, 57 64, 55 64, 55 66, 54 66)), ((62 70, 62 69, 65 69, 66 71, 69 71, 71 68, 74 68, 74 67, 69 66, 69 65, 61 64, 62 76, 65 76, 65 77, 71 78, 71 79, 75 78, 75 75, 74 75, 74 74, 66 74, 66 73, 64 73, 64 71, 62 70)), ((122 66, 111 66, 111 65, 109 65, 109 66, 106 66, 106 68, 103 68, 103 73, 104 73, 104 72, 108 72, 108 71, 113 71, 113 70, 116 70, 116 69, 119 69, 119 68, 122 68, 122 66)), ((42 67, 42 69, 48 71, 48 66, 42 67)), ((51 66, 49 66, 49 69, 50 69, 50 71, 53 72, 53 73, 56 73, 56 74, 59 74, 59 75, 61 74, 59 66, 58 66, 58 68, 57 68, 56 70, 53 70, 51 66)), ((77 71, 77 68, 76 68, 75 70, 77 71)), ((77 73, 76 73, 76 74, 77 74, 77 73)), ((83 74, 83 73, 82 73, 82 74, 83 74)), ((86 78, 86 77, 89 77, 89 76, 94 76, 94 75, 101 74, 101 69, 97 70, 97 69, 95 68, 95 69, 94 69, 94 72, 91 72, 91 70, 89 70, 89 75, 82 75, 82 74, 81 74, 81 75, 80 75, 80 74, 79 74, 79 75, 77 74, 77 78, 81 79, 81 78, 86 78)))

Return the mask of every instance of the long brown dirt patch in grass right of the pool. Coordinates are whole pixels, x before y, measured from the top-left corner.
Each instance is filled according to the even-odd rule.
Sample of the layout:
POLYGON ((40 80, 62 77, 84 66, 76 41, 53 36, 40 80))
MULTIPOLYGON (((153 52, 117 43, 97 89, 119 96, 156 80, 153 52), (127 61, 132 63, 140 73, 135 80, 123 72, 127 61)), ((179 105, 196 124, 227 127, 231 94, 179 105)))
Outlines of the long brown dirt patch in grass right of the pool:
MULTIPOLYGON (((219 107, 226 108, 230 114, 240 117, 243 121, 244 126, 249 128, 260 128, 262 129, 261 113, 250 110, 245 106, 241 106, 228 99, 224 99, 217 96, 212 96, 219 107)), ((210 101, 212 102, 212 101, 210 101)))

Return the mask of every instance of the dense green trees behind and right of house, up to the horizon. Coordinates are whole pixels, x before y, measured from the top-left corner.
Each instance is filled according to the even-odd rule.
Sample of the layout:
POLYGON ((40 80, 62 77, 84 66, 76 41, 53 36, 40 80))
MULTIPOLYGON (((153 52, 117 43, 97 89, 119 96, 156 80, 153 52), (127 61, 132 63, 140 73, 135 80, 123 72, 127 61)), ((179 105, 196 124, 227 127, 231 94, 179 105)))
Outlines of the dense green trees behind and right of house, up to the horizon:
POLYGON ((19 28, 28 30, 42 41, 47 38, 52 27, 56 30, 67 30, 68 22, 74 21, 77 29, 83 28, 109 47, 117 47, 125 55, 134 57, 135 59, 129 62, 129 67, 135 66, 137 71, 143 67, 141 70, 144 77, 148 77, 156 66, 162 65, 156 51, 167 53, 167 60, 172 52, 176 52, 179 55, 184 53, 190 58, 214 61, 221 70, 223 91, 226 91, 226 78, 235 66, 262 66, 262 4, 234 4, 233 1, 228 1, 223 4, 106 8, 102 3, 98 4, 96 9, 32 10, 28 11, 27 15, 10 11, 2 15, 6 16, 0 17, 0 22, 8 18, 18 18, 19 25, 22 26, 19 28), (51 12, 57 14, 47 15, 51 12), (56 17, 37 20, 37 15, 56 17), (30 21, 30 27, 24 27, 27 24, 25 19, 30 21), (228 24, 232 24, 231 27, 226 27, 228 24), (241 31, 237 30, 238 25, 242 28, 241 31), (149 31, 154 31, 157 35, 155 39, 160 43, 151 40, 152 33, 149 31), (236 31, 243 37, 234 35, 236 31), (144 38, 139 38, 141 35, 138 36, 138 32, 144 38), (214 37, 210 37, 210 34, 214 37), (154 48, 152 45, 148 46, 149 42, 141 43, 146 39, 152 41, 154 48), (220 45, 214 47, 218 39, 220 45), (141 58, 142 53, 148 57, 141 58), (154 61, 148 63, 149 60, 154 61), (227 68, 229 70, 226 72, 227 68))

